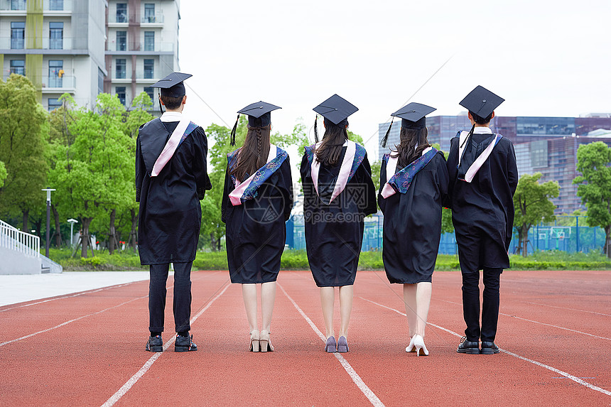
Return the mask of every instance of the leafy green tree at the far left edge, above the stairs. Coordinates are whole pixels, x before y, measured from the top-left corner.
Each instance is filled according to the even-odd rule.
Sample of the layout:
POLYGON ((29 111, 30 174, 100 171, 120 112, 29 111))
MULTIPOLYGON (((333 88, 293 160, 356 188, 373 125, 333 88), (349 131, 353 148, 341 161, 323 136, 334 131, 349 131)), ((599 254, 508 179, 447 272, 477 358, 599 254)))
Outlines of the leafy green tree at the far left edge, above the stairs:
POLYGON ((20 213, 23 230, 30 212, 45 205, 48 170, 45 149, 48 126, 46 112, 36 99, 28 78, 11 74, 0 80, 0 161, 4 161, 4 185, 0 188, 0 212, 20 213))

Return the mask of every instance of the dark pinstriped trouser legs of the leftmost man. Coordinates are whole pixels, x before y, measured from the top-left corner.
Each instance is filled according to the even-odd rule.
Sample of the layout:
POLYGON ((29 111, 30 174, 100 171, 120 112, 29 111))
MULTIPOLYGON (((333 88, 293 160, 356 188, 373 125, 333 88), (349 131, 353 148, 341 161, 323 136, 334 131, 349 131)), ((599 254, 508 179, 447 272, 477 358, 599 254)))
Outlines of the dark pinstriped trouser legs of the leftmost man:
MULTIPOLYGON (((189 263, 174 263, 174 324, 176 332, 191 329, 191 266, 189 263)), ((148 283, 148 330, 163 332, 163 317, 166 309, 166 282, 170 264, 151 264, 151 280, 148 283)))

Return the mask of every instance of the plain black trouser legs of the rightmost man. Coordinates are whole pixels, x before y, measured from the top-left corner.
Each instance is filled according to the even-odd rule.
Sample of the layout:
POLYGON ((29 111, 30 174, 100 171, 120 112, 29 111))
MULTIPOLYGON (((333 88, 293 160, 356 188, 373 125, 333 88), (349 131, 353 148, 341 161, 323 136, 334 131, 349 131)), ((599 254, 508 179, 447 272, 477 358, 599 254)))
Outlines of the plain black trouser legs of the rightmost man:
POLYGON ((463 273, 463 316, 468 341, 494 342, 499 321, 499 283, 502 268, 484 268, 482 327, 480 329, 480 271, 463 273))

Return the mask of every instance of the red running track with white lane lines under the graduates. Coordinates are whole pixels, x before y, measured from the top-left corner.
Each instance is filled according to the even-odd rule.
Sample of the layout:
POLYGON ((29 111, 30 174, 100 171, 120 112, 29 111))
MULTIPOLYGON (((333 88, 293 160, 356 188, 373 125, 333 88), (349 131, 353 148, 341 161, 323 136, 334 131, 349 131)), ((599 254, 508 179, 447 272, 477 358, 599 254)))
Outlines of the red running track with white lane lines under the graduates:
POLYGON ((426 330, 431 354, 417 358, 404 352, 401 286, 390 286, 383 271, 359 272, 350 352, 341 355, 323 352, 309 272, 280 273, 276 351, 267 354, 247 352, 242 293, 228 273, 198 271, 192 279, 200 350, 188 354, 170 343, 171 290, 170 346, 144 352, 148 281, 0 308, 0 406, 611 403, 609 271, 505 271, 497 334, 503 352, 495 355, 455 352, 464 330, 460 273, 436 272, 426 330))

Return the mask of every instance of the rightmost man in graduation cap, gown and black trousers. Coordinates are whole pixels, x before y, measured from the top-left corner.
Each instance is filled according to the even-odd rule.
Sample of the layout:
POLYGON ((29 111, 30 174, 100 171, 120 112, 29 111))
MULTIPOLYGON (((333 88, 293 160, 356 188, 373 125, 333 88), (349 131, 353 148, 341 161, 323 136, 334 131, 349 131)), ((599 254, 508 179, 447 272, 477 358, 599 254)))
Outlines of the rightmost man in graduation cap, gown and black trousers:
POLYGON ((463 274, 463 316, 467 325, 458 345, 459 353, 499 352, 494 344, 499 283, 503 268, 509 267, 507 249, 512 240, 513 195, 518 185, 514 146, 489 127, 494 109, 502 102, 504 99, 484 87, 473 89, 460 102, 469 111, 471 131, 459 131, 450 143, 450 206, 463 274), (480 270, 484 281, 481 327, 480 270))

